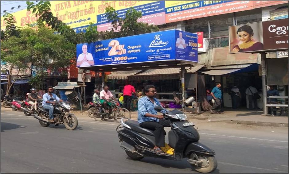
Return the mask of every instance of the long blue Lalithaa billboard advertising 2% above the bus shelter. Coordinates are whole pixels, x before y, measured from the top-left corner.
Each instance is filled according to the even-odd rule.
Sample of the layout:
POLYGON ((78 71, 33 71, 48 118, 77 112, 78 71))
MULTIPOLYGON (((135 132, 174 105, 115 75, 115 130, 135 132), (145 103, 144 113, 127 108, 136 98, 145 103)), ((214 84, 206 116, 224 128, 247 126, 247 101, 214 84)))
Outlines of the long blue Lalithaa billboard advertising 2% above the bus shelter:
POLYGON ((184 60, 197 62, 197 34, 167 30, 76 46, 77 67, 184 60))

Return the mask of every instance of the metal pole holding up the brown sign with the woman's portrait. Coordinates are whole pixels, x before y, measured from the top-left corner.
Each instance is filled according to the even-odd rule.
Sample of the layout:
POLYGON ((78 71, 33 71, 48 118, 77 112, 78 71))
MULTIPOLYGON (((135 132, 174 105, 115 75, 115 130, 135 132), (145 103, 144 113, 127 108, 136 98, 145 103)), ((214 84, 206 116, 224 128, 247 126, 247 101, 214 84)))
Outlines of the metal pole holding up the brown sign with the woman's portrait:
POLYGON ((266 53, 261 53, 261 70, 262 70, 262 91, 263 91, 263 114, 268 114, 267 104, 267 86, 266 86, 266 53))

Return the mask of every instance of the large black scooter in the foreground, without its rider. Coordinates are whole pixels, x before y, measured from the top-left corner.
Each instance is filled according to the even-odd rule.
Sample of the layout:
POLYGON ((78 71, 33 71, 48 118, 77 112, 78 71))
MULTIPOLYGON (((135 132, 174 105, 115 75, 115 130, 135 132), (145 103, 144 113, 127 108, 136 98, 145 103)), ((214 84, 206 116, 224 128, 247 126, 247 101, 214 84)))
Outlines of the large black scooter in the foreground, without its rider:
MULTIPOLYGON (((156 106, 157 111, 163 110, 156 106)), ((158 155, 154 152, 154 131, 142 128, 139 123, 128 118, 122 118, 121 124, 116 128, 121 141, 120 147, 133 160, 141 160, 143 157, 155 157, 169 160, 187 161, 197 172, 209 173, 217 168, 215 151, 199 143, 199 133, 194 123, 186 121, 186 114, 177 109, 164 114, 171 121, 169 131, 169 146, 174 149, 174 154, 165 153, 158 155), (127 119, 125 122, 124 120, 127 119)))

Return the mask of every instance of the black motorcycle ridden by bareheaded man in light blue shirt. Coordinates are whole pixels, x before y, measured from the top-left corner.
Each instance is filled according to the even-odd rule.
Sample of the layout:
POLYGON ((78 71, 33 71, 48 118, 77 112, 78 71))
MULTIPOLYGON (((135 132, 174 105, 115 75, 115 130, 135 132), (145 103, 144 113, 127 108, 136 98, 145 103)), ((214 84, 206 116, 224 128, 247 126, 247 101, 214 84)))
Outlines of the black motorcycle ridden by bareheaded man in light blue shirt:
MULTIPOLYGON (((51 98, 50 100, 53 101, 54 99, 51 98)), ((64 124, 66 129, 75 130, 78 125, 78 121, 76 116, 70 113, 71 106, 69 103, 66 101, 56 101, 52 106, 54 107, 53 116, 55 118, 55 122, 49 122, 49 110, 45 110, 42 106, 40 106, 38 114, 34 115, 34 118, 39 120, 40 125, 47 127, 50 124, 54 124, 55 126, 64 124)))

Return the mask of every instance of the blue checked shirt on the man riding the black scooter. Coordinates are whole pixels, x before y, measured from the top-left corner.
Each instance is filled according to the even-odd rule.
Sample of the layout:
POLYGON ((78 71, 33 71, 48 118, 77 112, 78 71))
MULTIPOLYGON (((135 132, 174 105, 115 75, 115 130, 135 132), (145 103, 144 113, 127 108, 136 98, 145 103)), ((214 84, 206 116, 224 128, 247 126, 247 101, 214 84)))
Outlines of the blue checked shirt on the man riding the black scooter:
MULTIPOLYGON (((154 106, 161 106, 161 103, 158 101, 158 99, 154 98, 154 103, 150 101, 150 99, 147 96, 142 97, 138 101, 138 122, 159 122, 158 118, 155 117, 146 117, 145 114, 154 114, 157 115, 157 111, 154 110, 154 106)), ((166 110, 160 111, 161 113, 166 113, 166 110)))

